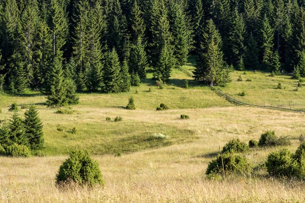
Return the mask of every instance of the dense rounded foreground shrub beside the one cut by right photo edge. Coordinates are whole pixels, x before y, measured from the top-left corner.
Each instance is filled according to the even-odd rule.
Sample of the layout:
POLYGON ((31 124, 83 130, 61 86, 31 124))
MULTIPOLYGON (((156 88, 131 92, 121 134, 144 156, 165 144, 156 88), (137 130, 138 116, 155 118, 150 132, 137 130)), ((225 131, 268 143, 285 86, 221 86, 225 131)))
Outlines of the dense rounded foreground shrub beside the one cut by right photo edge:
POLYGON ((270 176, 297 176, 299 174, 297 161, 288 149, 270 153, 265 164, 270 176))

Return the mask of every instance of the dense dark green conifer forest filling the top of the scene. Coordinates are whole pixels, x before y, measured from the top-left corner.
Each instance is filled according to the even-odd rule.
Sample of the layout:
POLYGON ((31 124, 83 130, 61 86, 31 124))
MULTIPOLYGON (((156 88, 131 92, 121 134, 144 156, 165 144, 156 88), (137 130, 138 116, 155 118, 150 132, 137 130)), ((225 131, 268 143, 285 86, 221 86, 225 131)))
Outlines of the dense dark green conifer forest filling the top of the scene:
POLYGON ((230 71, 305 77, 302 0, 3 0, 0 87, 75 104, 75 92, 124 92, 197 55, 195 79, 230 71))

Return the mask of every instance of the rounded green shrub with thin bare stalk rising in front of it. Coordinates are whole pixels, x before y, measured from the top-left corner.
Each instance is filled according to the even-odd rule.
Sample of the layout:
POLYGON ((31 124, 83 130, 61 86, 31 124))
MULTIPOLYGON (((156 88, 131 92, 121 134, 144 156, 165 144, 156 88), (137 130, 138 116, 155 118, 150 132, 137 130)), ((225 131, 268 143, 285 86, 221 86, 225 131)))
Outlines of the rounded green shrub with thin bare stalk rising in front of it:
POLYGON ((216 159, 210 161, 207 165, 205 174, 209 178, 214 177, 215 175, 223 174, 223 165, 225 174, 231 173, 247 173, 251 170, 251 165, 248 163, 248 160, 245 157, 241 157, 236 154, 225 153, 218 155, 216 159))

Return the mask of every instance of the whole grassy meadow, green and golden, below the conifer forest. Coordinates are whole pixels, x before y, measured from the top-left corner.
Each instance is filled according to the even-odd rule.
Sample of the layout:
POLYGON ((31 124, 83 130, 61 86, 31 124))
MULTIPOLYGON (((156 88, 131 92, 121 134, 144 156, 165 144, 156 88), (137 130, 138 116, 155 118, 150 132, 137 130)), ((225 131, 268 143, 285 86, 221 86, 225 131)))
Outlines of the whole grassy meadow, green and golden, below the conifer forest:
MULTIPOLYGON (((184 66, 192 71, 194 61, 184 66)), ((9 119, 9 106, 35 104, 44 124, 45 157, 0 157, 0 202, 303 202, 304 182, 267 176, 262 164, 282 147, 252 149, 245 155, 255 167, 251 176, 208 180, 207 164, 233 138, 258 141, 268 129, 288 136, 294 152, 305 130, 305 114, 235 106, 180 70, 173 70, 164 89, 155 81, 119 94, 79 94, 80 104, 66 107, 72 114, 57 114, 44 105, 39 92, 2 93, 0 120, 9 119), (182 88, 184 80, 190 88, 182 88), (148 91, 150 88, 151 91, 148 91), (130 96, 136 110, 126 110, 130 96), (156 111, 164 103, 169 110, 156 111), (123 107, 123 108, 122 108, 123 107), (186 114, 190 119, 180 120, 186 114), (116 116, 123 121, 114 122, 116 116), (110 117, 111 121, 106 121, 110 117), (57 130, 58 127, 63 131, 57 130), (76 134, 70 133, 76 127, 76 134), (86 149, 98 160, 104 187, 71 186, 59 190, 55 175, 75 148, 86 149), (121 156, 116 157, 115 154, 121 156)), ((289 76, 232 73, 232 83, 221 90, 257 104, 290 105, 305 110, 305 87, 296 91, 289 76), (243 81, 237 81, 241 75, 243 81), (251 82, 247 82, 251 79, 251 82), (283 89, 276 89, 281 82, 283 89), (245 91, 246 96, 238 96, 245 91)), ((20 110, 20 115, 26 109, 20 110)))

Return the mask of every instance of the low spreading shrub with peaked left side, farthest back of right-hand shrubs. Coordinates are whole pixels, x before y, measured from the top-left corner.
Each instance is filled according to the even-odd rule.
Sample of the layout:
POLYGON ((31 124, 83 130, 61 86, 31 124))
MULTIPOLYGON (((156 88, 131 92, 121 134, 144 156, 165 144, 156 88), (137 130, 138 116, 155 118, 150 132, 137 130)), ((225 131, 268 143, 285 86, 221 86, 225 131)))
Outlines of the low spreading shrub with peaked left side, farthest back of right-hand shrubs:
POLYGON ((260 147, 268 147, 268 146, 287 146, 290 145, 291 142, 285 137, 277 137, 275 131, 267 130, 263 134, 258 141, 258 146, 260 147))

